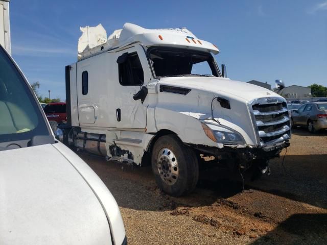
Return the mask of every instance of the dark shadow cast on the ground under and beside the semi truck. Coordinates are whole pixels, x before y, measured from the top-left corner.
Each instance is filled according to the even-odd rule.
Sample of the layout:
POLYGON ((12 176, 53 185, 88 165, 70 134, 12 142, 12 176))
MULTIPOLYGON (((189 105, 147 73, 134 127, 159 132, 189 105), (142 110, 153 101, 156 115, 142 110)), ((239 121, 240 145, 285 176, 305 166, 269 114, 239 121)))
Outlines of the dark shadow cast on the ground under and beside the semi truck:
MULTIPOLYGON (((298 202, 327 208, 327 155, 288 155, 271 161, 271 175, 247 181, 245 189, 256 189, 298 202)), ((103 158, 83 156, 112 192, 119 205, 138 210, 167 210, 178 206, 209 206, 242 192, 241 176, 226 169, 201 171, 196 190, 173 198, 157 188, 150 166, 126 166, 103 158), (88 160, 89 159, 89 160, 88 160), (144 202, 145 197, 152 197, 144 202)))

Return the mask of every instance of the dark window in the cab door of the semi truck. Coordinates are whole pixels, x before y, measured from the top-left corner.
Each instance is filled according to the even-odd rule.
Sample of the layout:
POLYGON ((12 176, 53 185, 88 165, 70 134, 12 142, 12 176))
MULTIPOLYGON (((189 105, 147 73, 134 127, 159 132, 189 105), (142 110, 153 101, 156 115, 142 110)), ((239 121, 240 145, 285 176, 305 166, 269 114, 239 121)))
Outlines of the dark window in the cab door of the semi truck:
POLYGON ((119 83, 123 86, 139 86, 144 83, 144 72, 136 52, 124 54, 124 62, 118 64, 119 83))

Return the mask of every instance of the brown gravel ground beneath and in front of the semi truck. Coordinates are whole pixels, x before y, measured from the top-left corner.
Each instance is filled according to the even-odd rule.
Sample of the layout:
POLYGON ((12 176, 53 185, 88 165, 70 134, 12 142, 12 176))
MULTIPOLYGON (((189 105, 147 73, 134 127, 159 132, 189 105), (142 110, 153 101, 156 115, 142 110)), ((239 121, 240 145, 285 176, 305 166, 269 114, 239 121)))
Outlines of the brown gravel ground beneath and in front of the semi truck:
POLYGON ((244 191, 211 169, 182 198, 160 191, 150 167, 80 156, 118 202, 129 244, 327 244, 327 131, 293 130, 271 175, 244 191))

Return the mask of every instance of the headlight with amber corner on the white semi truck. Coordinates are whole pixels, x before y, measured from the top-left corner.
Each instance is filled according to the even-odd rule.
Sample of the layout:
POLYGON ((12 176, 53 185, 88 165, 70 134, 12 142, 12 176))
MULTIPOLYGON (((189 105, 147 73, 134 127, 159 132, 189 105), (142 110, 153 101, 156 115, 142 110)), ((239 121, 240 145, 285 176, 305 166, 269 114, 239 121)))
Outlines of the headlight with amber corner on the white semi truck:
POLYGON ((211 125, 211 127, 209 127, 203 122, 201 125, 206 136, 217 143, 245 144, 245 140, 242 135, 230 128, 216 125, 211 125))

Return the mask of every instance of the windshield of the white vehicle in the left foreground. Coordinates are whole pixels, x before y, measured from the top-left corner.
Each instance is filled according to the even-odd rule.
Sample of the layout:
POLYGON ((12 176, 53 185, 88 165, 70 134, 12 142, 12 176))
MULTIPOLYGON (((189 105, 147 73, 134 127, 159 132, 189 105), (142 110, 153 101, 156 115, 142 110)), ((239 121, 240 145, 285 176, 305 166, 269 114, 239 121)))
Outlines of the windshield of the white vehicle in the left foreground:
POLYGON ((0 46, 0 143, 49 135, 30 89, 0 46))

